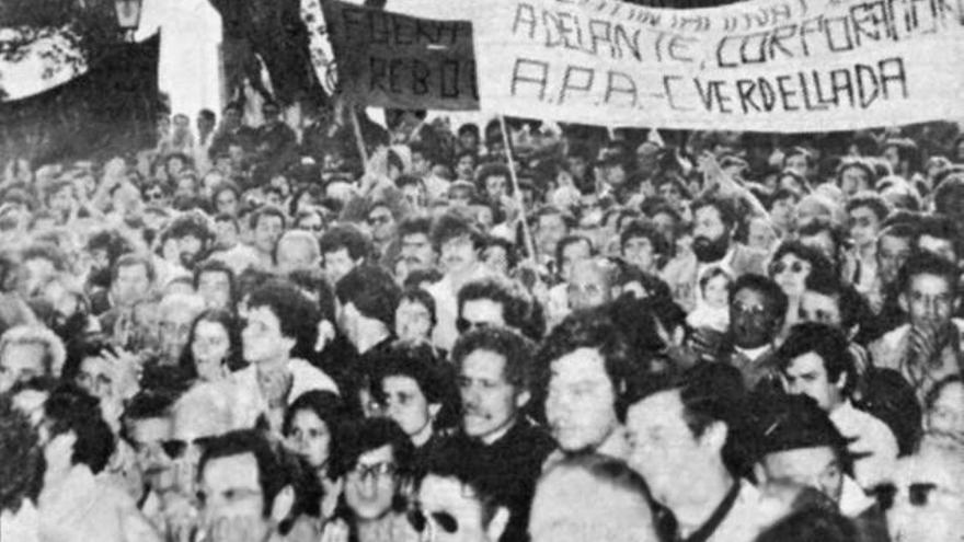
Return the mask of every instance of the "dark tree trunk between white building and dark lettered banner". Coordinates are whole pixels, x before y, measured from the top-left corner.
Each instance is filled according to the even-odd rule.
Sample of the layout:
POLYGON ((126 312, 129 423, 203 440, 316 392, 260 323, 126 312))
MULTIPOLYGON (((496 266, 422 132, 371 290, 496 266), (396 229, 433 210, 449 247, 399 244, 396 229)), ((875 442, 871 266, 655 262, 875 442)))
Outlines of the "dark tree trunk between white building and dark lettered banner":
POLYGON ((273 96, 285 105, 326 94, 311 65, 308 27, 298 0, 209 0, 221 15, 225 71, 233 94, 248 79, 259 89, 260 58, 271 77, 273 96))

